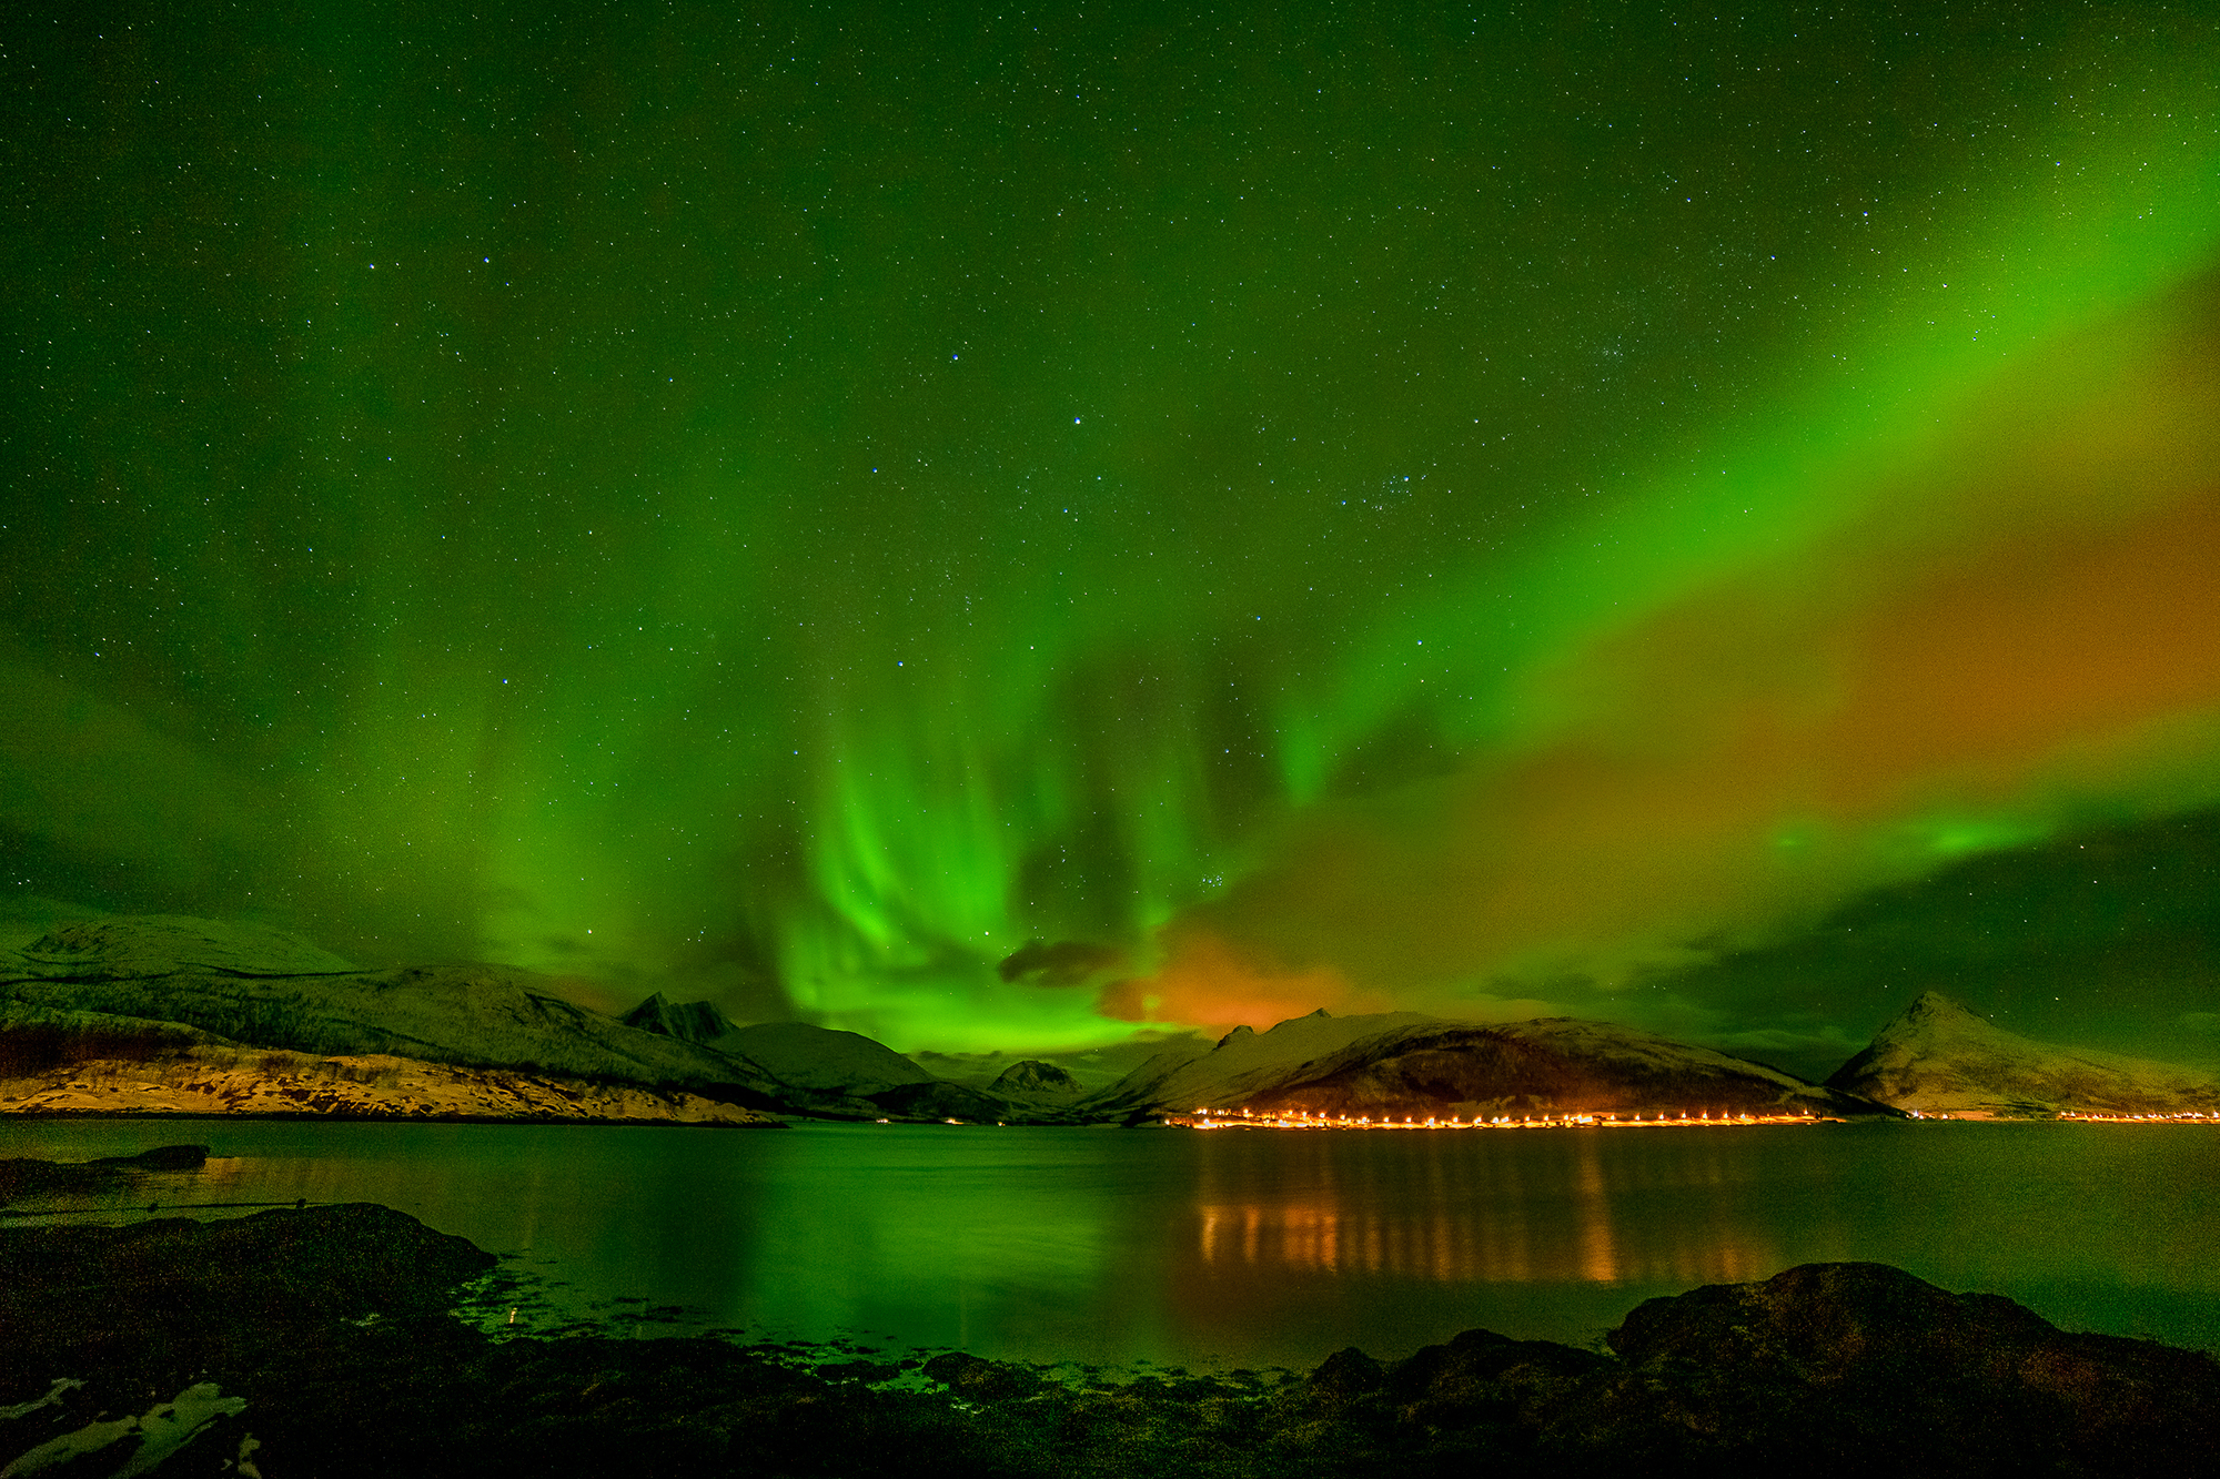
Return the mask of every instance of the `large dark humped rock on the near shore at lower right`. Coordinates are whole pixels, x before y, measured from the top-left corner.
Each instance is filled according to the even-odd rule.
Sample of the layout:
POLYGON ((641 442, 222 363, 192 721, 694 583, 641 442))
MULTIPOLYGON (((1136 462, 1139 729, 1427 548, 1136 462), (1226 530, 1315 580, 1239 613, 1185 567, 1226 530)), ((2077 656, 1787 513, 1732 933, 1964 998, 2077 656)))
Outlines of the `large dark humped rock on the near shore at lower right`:
POLYGON ((1672 1472, 2180 1472, 2220 1455, 2211 1357, 2071 1335, 1883 1264, 1652 1299, 1607 1344, 1627 1368, 1590 1384, 1556 1441, 1672 1472))

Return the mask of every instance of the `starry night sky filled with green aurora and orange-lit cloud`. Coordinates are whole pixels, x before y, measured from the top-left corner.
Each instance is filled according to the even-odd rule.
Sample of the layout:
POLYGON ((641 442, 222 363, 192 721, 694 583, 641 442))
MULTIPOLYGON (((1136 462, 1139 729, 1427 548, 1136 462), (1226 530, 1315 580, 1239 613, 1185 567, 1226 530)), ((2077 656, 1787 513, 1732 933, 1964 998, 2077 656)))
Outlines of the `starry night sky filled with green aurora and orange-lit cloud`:
POLYGON ((0 22, 0 886, 897 1048, 2220 1053, 2220 22, 0 22))

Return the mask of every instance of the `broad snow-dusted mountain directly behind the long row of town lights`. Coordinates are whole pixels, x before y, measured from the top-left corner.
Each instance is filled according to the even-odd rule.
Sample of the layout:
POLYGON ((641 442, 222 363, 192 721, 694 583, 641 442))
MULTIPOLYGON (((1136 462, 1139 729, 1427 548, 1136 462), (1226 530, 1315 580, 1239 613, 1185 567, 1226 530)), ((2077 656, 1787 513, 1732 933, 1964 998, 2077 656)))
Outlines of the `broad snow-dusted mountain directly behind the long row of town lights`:
POLYGON ((1419 1013, 1312 1013, 1168 1053, 1101 1095, 1094 1115, 1252 1108, 1314 1115, 1876 1115, 1878 1104, 1712 1048, 1543 1017, 1461 1024, 1419 1013))

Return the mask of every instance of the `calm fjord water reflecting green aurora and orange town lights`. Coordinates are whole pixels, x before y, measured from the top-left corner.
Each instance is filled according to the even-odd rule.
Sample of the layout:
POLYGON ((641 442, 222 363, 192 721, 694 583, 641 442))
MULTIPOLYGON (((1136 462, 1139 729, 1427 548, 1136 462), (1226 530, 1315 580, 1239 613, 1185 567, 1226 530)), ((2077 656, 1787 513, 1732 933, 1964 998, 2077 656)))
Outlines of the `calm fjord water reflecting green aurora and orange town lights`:
POLYGON ((646 1301, 801 1339, 1310 1366, 1472 1326, 1585 1344, 1649 1295, 1876 1259, 2067 1328, 2220 1348, 2220 1128, 2202 1126, 18 1121, 0 1155, 189 1139, 226 1159, 158 1195, 384 1201, 515 1255, 542 1319, 646 1301))

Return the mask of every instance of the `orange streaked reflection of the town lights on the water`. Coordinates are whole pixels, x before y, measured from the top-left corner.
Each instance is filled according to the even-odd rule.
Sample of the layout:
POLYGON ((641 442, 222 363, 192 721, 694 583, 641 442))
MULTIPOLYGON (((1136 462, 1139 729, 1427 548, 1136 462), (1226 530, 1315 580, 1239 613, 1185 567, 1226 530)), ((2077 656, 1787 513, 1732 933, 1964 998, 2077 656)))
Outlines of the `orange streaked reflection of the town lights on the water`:
POLYGON ((1718 1146, 1538 1139, 1210 1137, 1197 1250, 1203 1264, 1454 1284, 1721 1284, 1783 1266, 1718 1146), (1669 1201, 1672 1215, 1629 1221, 1616 1208, 1627 1199, 1669 1201))

